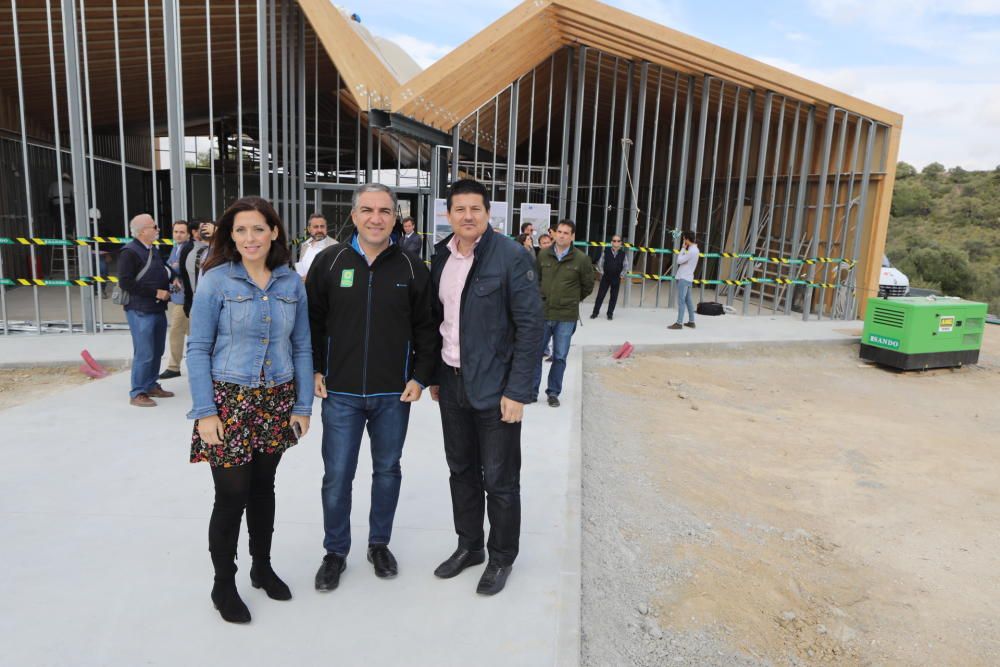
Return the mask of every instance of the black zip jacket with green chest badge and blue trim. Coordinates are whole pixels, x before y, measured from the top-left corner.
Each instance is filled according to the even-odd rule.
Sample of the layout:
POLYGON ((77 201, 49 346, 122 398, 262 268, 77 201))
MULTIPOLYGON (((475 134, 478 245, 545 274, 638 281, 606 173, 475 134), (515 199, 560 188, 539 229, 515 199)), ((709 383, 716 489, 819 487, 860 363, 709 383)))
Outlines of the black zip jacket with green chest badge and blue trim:
POLYGON ((411 379, 426 386, 438 336, 427 267, 396 244, 369 266, 354 246, 326 248, 306 278, 314 371, 339 394, 398 394, 411 379))

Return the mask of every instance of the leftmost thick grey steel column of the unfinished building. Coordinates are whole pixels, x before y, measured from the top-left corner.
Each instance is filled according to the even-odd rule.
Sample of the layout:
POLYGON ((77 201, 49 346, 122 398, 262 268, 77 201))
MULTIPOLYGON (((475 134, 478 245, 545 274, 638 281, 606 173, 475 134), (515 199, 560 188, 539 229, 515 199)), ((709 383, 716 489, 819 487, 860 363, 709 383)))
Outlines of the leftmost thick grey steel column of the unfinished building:
MULTIPOLYGON (((63 55, 66 67, 66 115, 69 119, 69 154, 73 169, 73 214, 76 220, 77 236, 88 236, 87 218, 87 165, 83 139, 83 105, 80 100, 80 66, 78 61, 76 30, 67 30, 65 26, 76 26, 76 5, 74 0, 62 0, 63 55)), ((83 31, 86 35, 86 31, 83 31)), ((17 49, 20 51, 20 49, 17 49)), ((92 263, 91 247, 77 246, 77 265, 90 267, 92 263)), ((94 292, 90 287, 80 288, 80 306, 83 311, 84 333, 94 333, 94 292)), ((6 313, 4 322, 6 326, 6 313)))

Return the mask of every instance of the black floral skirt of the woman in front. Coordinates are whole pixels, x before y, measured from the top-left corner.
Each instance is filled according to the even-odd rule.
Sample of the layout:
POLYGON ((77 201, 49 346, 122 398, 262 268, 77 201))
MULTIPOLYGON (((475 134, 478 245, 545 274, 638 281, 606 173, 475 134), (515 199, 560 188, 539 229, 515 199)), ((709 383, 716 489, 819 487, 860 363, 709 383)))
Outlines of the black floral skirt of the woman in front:
POLYGON ((212 387, 224 437, 221 445, 206 444, 195 420, 191 463, 207 461, 213 468, 230 468, 250 463, 255 452, 277 454, 297 442, 288 421, 295 405, 294 382, 276 387, 213 382, 212 387))

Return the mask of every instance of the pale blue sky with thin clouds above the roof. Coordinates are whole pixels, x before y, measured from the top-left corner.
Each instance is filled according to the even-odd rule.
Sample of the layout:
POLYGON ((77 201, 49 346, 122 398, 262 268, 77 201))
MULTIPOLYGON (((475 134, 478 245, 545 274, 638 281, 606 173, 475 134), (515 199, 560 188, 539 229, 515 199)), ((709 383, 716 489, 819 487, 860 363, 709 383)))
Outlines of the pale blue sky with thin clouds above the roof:
MULTIPOLYGON (((900 159, 1000 165, 1000 0, 607 4, 902 113, 900 159)), ((427 66, 516 6, 510 0, 347 5, 427 66)))

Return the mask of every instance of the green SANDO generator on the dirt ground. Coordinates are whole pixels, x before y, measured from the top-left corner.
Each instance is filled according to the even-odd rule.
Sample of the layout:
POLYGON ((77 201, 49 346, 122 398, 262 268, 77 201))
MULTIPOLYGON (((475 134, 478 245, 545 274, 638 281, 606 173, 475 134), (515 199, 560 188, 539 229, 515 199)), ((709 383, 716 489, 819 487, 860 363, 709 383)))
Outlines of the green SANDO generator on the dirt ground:
POLYGON ((958 297, 868 299, 861 358, 904 371, 979 361, 986 304, 958 297))

